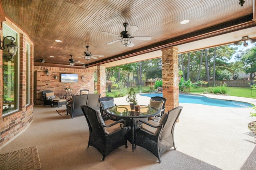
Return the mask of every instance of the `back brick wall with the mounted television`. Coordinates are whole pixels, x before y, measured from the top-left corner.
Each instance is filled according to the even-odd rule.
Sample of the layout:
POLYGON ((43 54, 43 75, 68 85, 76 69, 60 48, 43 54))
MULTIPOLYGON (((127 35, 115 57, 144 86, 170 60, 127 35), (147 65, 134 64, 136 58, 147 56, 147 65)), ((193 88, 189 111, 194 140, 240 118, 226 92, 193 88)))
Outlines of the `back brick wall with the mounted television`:
POLYGON ((78 69, 78 68, 60 68, 49 66, 34 66, 34 71, 37 71, 36 82, 36 104, 44 104, 42 91, 52 90, 56 97, 66 95, 66 86, 72 89, 72 95, 80 94, 81 89, 88 89, 89 93, 94 93, 94 70, 92 69, 78 69), (45 70, 48 69, 49 76, 46 75, 45 70), (78 83, 61 83, 60 75, 64 74, 78 74, 78 83), (58 80, 55 76, 58 76, 58 80), (82 80, 84 76, 84 80, 82 80))

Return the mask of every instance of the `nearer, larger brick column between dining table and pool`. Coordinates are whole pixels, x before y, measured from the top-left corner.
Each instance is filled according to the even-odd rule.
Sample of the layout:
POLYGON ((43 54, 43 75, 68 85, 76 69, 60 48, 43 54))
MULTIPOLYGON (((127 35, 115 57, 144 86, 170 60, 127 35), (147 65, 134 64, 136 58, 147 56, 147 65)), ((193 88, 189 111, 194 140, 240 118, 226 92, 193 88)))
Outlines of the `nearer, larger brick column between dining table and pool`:
POLYGON ((166 98, 165 112, 179 106, 178 49, 162 49, 163 97, 166 98))

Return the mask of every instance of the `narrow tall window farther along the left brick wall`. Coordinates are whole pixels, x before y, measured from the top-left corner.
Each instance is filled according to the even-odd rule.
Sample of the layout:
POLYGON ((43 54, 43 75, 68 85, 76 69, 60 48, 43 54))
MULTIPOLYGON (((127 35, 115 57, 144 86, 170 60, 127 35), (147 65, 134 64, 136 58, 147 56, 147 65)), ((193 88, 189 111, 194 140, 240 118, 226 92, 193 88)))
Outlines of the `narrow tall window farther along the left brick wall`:
POLYGON ((30 103, 30 45, 26 44, 27 70, 26 70, 26 104, 30 103))

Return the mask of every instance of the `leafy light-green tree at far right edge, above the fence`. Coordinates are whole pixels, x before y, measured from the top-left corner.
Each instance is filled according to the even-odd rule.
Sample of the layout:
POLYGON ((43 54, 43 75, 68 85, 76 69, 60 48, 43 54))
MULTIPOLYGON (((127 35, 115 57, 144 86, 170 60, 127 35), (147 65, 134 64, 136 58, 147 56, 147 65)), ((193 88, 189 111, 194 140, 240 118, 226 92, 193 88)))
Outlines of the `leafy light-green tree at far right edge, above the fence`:
POLYGON ((246 49, 245 51, 239 51, 235 58, 243 63, 244 72, 250 74, 250 80, 252 80, 252 78, 255 77, 256 72, 256 47, 246 49))

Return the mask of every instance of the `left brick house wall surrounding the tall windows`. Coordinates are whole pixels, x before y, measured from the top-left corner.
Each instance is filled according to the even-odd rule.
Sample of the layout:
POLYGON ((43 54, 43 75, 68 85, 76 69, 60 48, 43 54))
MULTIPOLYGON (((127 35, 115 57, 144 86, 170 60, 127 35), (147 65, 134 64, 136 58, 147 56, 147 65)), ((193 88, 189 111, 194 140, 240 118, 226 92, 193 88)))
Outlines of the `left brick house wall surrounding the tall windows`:
MULTIPOLYGON (((33 84, 30 81, 30 94, 31 100, 29 105, 26 105, 26 62, 33 63, 33 53, 30 53, 31 61, 27 61, 26 56, 26 42, 28 42, 31 47, 32 43, 29 37, 20 29, 17 25, 12 23, 12 21, 6 18, 6 21, 12 28, 15 28, 20 34, 20 82, 19 82, 19 109, 14 113, 3 115, 3 82, 0 81, 0 147, 8 143, 12 138, 14 138, 18 133, 24 130, 33 119, 33 103, 32 103, 32 94, 33 94, 33 84)), ((0 30, 0 35, 2 39, 3 31, 0 30)), ((33 52, 33 51, 31 51, 33 52)), ((0 50, 0 77, 2 78, 2 50, 0 50)), ((30 70, 33 70, 33 64, 30 64, 30 70)), ((33 72, 30 72, 30 80, 33 80, 33 72)))

